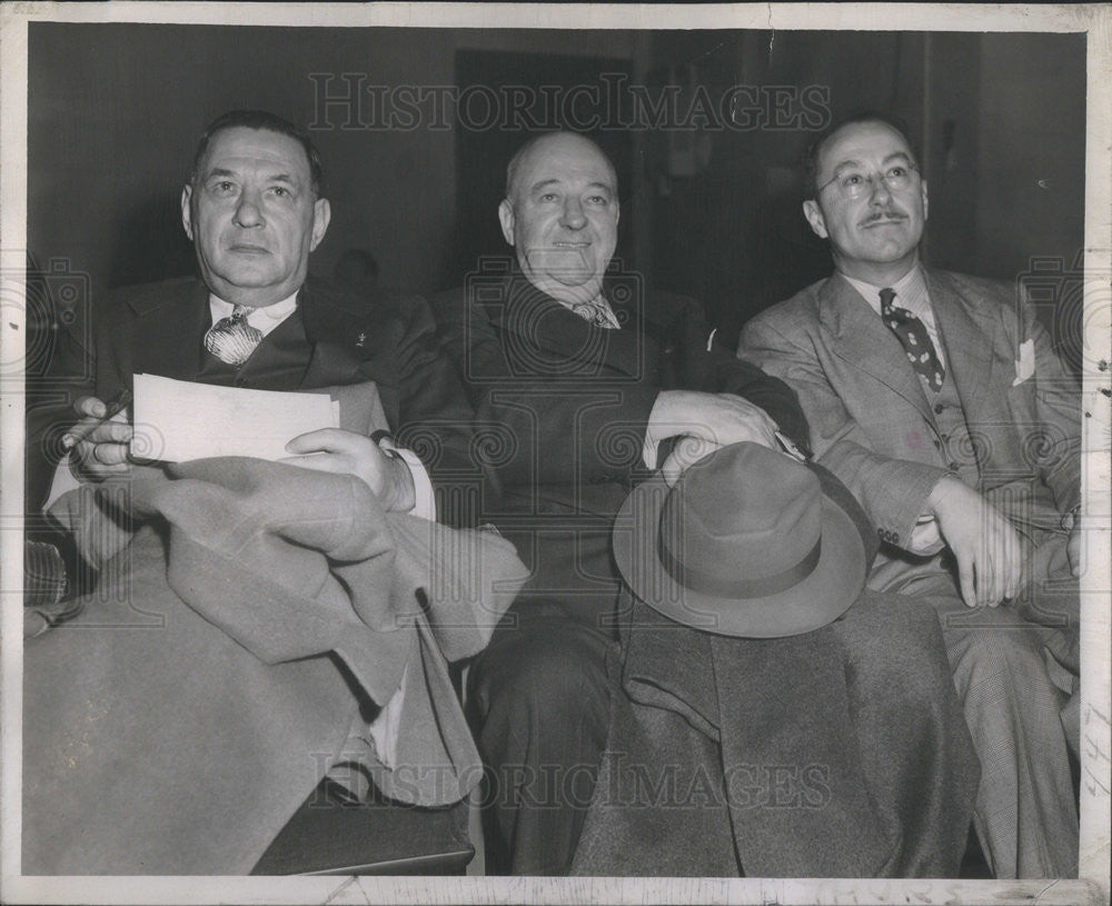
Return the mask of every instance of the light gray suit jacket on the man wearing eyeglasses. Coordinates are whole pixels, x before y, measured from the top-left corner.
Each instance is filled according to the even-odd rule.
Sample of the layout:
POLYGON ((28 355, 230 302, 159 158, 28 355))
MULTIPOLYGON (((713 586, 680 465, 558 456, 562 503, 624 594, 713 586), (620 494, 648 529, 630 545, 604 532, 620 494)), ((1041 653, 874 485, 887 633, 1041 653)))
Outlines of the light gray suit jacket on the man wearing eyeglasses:
POLYGON ((1046 330, 1012 287, 924 273, 965 414, 956 436, 943 436, 900 341, 838 275, 753 318, 738 346, 798 394, 818 461, 886 542, 874 579, 922 565, 906 545, 952 464, 975 467, 976 489, 1036 544, 1080 500, 1080 394, 1046 330))

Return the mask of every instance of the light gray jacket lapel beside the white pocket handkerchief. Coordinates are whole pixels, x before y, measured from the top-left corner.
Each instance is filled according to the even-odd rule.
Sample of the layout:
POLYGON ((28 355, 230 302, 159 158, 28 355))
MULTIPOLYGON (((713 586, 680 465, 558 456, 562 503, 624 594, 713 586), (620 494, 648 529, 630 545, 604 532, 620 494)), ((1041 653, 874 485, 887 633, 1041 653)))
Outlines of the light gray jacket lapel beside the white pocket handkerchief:
POLYGON ((992 331, 985 331, 971 316, 969 306, 953 291, 945 276, 924 271, 931 306, 946 348, 946 368, 953 378, 966 417, 975 419, 996 386, 997 356, 992 347, 992 331))

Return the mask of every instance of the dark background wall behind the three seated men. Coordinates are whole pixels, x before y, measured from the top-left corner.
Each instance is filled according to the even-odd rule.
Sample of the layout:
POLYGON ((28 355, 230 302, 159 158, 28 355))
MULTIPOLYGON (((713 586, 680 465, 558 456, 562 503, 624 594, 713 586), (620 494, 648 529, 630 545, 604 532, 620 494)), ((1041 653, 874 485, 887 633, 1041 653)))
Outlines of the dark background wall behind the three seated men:
MULTIPOLYGON (((923 148, 926 260, 1014 280, 1034 258, 1072 263, 1083 245, 1084 40, 31 23, 29 251, 88 273, 92 312, 109 287, 189 272, 178 195, 197 133, 227 109, 264 107, 314 126, 325 158, 334 219, 315 270, 329 273, 357 246, 374 252, 387 286, 449 286, 480 245, 497 245, 506 149, 528 131, 463 129, 450 117, 437 128, 420 118, 365 128, 374 111, 351 121, 350 103, 321 108, 321 80, 331 77, 332 97, 351 84, 463 87, 484 73, 496 89, 522 67, 515 81, 565 91, 625 73, 656 90, 677 86, 686 100, 698 87, 719 98, 748 86, 768 98, 814 86, 834 116, 894 110, 923 148)), ((624 182, 627 266, 699 297, 727 336, 828 272, 800 213, 795 169, 823 123, 800 118, 798 97, 784 109, 784 128, 716 129, 696 118, 692 129, 603 135, 624 182)))

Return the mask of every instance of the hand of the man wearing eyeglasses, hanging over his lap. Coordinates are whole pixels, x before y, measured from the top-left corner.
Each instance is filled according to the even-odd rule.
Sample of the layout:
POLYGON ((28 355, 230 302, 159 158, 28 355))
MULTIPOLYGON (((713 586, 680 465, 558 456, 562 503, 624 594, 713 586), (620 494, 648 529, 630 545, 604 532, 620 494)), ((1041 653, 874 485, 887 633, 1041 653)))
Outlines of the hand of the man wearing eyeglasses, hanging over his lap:
POLYGON ((1014 598, 1023 579, 1023 545, 1019 532, 996 508, 949 475, 934 486, 927 507, 957 560, 965 604, 995 607, 1005 598, 1014 598))

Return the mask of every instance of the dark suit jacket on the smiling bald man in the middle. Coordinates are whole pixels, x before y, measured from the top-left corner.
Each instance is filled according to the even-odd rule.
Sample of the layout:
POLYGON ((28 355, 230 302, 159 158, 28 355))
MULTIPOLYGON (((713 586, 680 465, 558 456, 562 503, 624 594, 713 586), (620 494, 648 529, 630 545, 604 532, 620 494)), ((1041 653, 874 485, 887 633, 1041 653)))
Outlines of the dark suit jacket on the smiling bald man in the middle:
POLYGON ((617 597, 610 530, 646 477, 642 447, 661 390, 737 394, 800 442, 807 436, 786 385, 708 348, 696 302, 646 293, 637 280, 607 295, 620 330, 588 323, 517 271, 480 273, 431 300, 476 411, 476 445, 502 481, 485 518, 533 569, 525 594, 587 621, 617 597))

